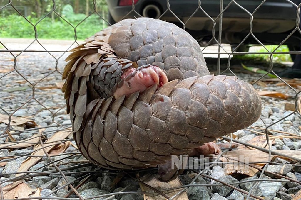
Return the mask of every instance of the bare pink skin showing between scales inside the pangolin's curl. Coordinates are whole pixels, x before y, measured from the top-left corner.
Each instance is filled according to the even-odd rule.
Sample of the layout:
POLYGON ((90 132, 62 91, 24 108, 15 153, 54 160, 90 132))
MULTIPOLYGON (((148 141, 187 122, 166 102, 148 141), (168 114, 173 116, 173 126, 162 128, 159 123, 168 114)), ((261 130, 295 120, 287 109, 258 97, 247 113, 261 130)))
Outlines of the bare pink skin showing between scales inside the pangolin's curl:
POLYGON ((160 87, 168 82, 166 74, 157 65, 150 65, 139 70, 136 70, 136 68, 133 67, 128 68, 123 72, 121 79, 123 79, 123 85, 114 92, 114 97, 116 99, 122 95, 128 96, 137 91, 143 92, 145 89, 155 84, 157 87, 160 87), (135 75, 126 80, 131 74, 135 75))

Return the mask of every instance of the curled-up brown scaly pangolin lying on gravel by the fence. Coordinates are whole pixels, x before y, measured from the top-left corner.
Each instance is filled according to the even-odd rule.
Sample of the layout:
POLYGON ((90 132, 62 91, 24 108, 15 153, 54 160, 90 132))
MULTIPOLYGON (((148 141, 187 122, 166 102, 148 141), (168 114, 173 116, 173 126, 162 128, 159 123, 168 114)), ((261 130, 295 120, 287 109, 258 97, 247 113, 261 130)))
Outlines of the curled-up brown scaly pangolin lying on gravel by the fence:
POLYGON ((210 75, 197 41, 162 20, 122 20, 66 61, 62 91, 74 139, 103 168, 164 164, 250 126, 261 113, 253 86, 210 75))

